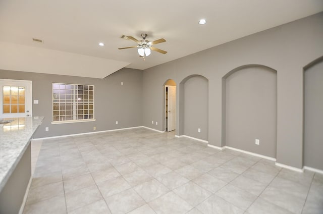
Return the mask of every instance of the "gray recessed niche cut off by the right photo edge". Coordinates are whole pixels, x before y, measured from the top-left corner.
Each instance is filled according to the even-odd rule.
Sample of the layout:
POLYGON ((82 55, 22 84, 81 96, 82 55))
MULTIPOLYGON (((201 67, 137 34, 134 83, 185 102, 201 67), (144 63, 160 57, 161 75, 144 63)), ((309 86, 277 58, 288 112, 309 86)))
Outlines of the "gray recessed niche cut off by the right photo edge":
POLYGON ((304 72, 304 165, 323 170, 323 58, 304 72))

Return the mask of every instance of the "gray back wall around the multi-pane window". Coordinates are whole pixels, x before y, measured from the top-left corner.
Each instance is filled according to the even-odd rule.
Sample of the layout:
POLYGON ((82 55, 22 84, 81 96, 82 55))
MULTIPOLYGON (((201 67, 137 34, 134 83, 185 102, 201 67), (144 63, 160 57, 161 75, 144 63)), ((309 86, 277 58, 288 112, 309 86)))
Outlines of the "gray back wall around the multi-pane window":
POLYGON ((33 116, 45 117, 34 138, 93 132, 94 126, 95 131, 142 126, 141 70, 125 68, 104 79, 0 70, 0 79, 33 81, 33 99, 39 100, 33 104, 33 116), (52 82, 94 85, 96 121, 52 125, 52 82))

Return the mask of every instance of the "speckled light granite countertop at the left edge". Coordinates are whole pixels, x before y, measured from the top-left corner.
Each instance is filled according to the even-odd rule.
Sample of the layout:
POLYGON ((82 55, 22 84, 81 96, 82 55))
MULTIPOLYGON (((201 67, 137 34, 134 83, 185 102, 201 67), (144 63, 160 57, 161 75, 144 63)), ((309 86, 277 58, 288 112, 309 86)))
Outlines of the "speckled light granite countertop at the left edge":
POLYGON ((0 191, 25 153, 29 140, 44 117, 6 118, 13 120, 0 124, 0 191))

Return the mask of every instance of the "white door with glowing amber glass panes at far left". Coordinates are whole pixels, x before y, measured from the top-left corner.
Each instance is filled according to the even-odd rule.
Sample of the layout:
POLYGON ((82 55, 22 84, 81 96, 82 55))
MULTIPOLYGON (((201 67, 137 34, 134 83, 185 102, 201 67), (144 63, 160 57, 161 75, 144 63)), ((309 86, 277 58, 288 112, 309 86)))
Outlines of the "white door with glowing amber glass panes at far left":
POLYGON ((32 81, 0 79, 0 118, 31 117, 32 81))

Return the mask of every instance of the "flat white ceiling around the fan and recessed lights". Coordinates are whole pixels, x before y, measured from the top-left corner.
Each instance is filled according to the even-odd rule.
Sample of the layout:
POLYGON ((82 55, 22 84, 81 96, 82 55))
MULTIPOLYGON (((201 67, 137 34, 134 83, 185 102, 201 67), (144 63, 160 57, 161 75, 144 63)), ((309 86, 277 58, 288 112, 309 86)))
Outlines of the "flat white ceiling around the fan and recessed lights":
POLYGON ((322 0, 0 0, 0 41, 104 58, 107 76, 114 62, 143 70, 321 11, 322 0), (141 33, 165 38, 154 47, 168 53, 143 61, 136 48, 118 49, 136 45, 122 35, 141 33))

